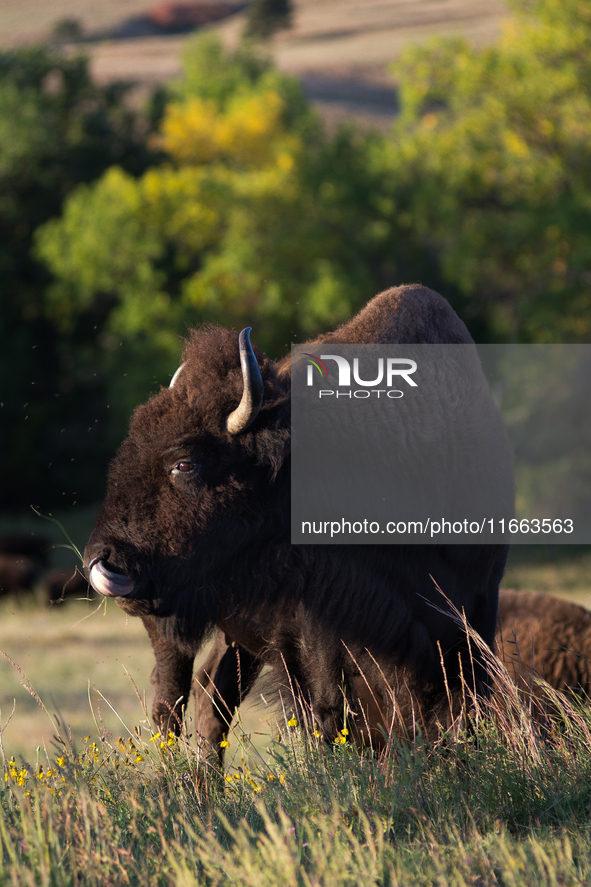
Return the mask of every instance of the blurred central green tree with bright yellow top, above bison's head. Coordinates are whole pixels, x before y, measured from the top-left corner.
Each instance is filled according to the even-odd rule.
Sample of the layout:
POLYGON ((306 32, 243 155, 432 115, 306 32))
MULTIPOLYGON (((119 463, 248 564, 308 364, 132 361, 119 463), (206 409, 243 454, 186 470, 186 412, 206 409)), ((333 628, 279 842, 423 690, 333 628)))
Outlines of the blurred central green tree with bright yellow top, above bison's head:
POLYGON ((38 235, 56 323, 108 299, 105 365, 128 371, 120 341, 138 356, 122 411, 145 396, 148 366, 170 376, 187 324, 253 325, 277 355, 391 281, 378 140, 325 136, 297 82, 252 50, 199 38, 186 66, 153 140, 163 161, 140 177, 110 169, 38 235))

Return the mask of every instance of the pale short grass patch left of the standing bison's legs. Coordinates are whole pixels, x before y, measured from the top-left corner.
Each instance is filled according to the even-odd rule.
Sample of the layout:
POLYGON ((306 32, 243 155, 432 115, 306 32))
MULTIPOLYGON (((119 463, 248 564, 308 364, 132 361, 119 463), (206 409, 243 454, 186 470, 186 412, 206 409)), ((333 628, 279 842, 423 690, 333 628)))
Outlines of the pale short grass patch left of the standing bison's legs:
POLYGON ((34 760, 37 747, 51 744, 55 716, 76 738, 96 734, 95 718, 116 730, 118 719, 102 697, 129 722, 140 717, 130 677, 140 695, 151 698, 153 655, 145 629, 112 602, 105 608, 97 601, 51 607, 3 601, 0 650, 9 657, 0 658, 0 725, 7 753, 17 758, 34 760))

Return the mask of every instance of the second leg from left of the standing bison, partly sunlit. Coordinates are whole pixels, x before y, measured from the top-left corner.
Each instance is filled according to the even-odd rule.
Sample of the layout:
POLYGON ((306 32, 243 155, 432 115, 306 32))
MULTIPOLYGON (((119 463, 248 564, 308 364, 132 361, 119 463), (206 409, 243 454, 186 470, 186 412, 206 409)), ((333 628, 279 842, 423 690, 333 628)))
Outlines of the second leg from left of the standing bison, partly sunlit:
POLYGON ((220 766, 220 747, 234 711, 252 688, 262 662, 218 629, 209 656, 197 671, 195 685, 195 732, 203 758, 215 753, 220 766))

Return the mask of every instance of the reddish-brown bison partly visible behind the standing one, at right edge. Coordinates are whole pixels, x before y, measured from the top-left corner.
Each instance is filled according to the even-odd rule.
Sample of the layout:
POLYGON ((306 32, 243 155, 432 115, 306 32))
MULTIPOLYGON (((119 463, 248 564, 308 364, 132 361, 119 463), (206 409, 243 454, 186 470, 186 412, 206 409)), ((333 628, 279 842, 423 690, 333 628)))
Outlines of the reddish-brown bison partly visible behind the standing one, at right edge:
POLYGON ((533 591, 499 593, 498 655, 518 686, 532 673, 561 692, 591 695, 591 613, 533 591))

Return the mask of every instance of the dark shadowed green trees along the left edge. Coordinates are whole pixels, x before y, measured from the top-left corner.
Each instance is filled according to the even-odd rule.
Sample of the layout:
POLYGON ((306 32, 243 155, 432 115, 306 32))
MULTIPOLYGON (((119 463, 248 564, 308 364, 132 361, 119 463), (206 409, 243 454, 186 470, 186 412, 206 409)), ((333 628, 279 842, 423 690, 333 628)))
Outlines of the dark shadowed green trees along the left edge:
POLYGON ((56 486, 60 495, 82 494, 93 483, 83 456, 100 451, 95 419, 105 407, 96 397, 103 382, 93 328, 106 303, 97 300, 64 337, 47 314, 50 277, 31 246, 77 184, 113 163, 139 173, 153 158, 148 124, 126 107, 125 92, 96 86, 81 58, 44 47, 0 54, 3 507, 45 502, 56 486))

